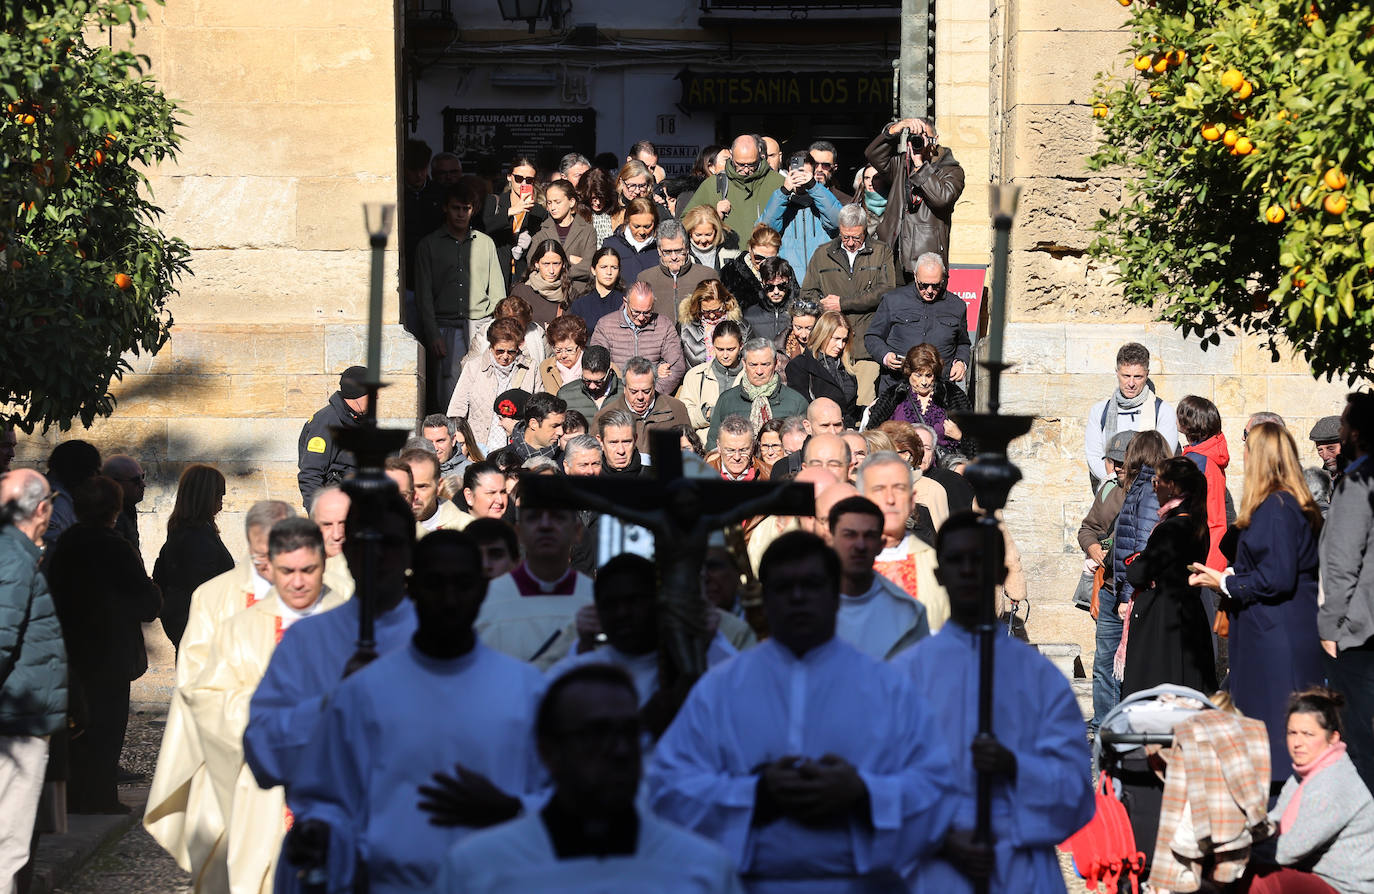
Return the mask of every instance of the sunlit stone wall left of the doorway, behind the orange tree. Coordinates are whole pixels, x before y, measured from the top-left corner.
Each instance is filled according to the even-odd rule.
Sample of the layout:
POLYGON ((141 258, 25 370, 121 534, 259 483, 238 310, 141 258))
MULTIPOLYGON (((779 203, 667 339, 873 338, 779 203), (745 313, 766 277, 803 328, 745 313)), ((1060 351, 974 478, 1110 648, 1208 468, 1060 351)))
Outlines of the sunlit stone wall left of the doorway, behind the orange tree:
MULTIPOLYGON (((168 232, 192 249, 172 301, 170 342, 131 357, 111 419, 89 431, 21 438, 41 463, 63 438, 128 452, 148 472, 144 555, 165 538, 176 481, 194 461, 228 478, 224 540, 243 555, 242 512, 300 503, 297 435, 364 363, 364 200, 396 200, 398 106, 392 0, 168 0, 137 29, 150 73, 183 108, 183 152, 148 172, 168 232)), ((125 40, 128 33, 115 33, 125 40)), ((394 244, 394 236, 393 236, 394 244)), ((397 253, 386 319, 398 320, 397 253)), ((414 424, 416 345, 387 327, 379 401, 414 424)))

